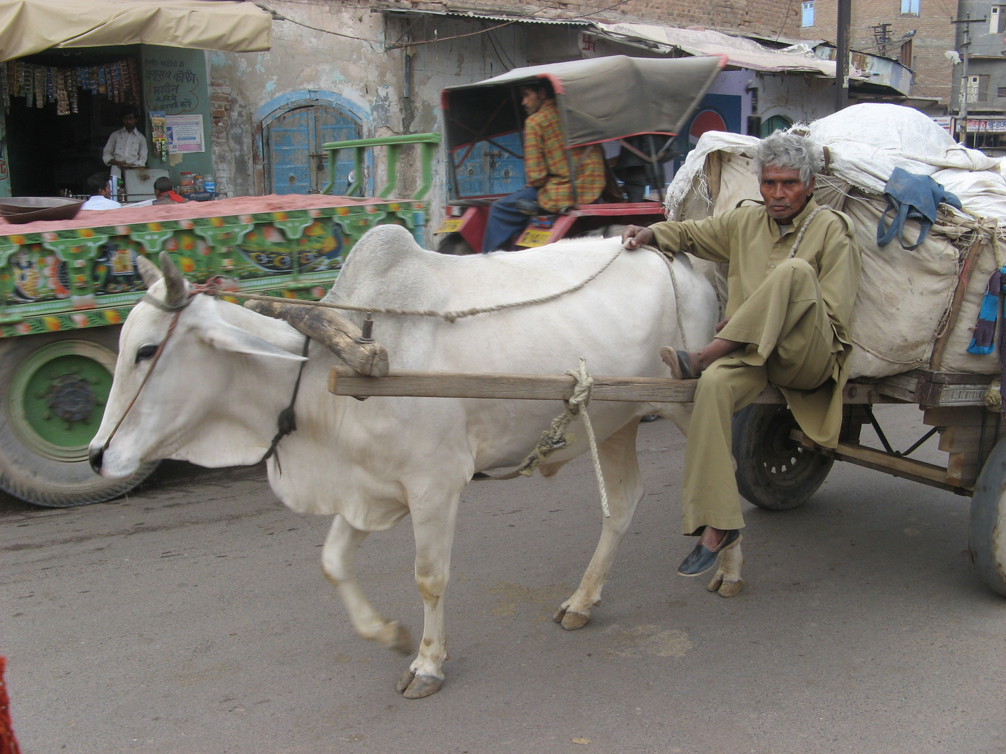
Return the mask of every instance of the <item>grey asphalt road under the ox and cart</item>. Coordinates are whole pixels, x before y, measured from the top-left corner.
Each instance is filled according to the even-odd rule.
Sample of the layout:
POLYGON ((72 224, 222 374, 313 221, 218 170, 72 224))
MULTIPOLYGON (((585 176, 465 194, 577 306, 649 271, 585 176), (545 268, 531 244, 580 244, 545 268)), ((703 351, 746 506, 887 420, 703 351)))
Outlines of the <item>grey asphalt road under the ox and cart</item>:
MULTIPOLYGON (((896 414, 905 438, 920 425, 896 414)), ((918 432, 920 433, 920 432, 918 432)), ((917 436, 917 434, 914 434, 917 436)), ((902 443, 902 446, 908 442, 902 443)), ((443 690, 352 631, 328 519, 262 467, 165 464, 128 500, 0 499, 0 653, 24 754, 1006 751, 1006 600, 967 558, 968 500, 836 464, 801 509, 745 504, 746 589, 674 568, 683 440, 644 424, 647 496, 586 627, 551 622, 597 542, 589 460, 464 496, 443 690)), ((406 519, 358 558, 422 630, 406 519)))

